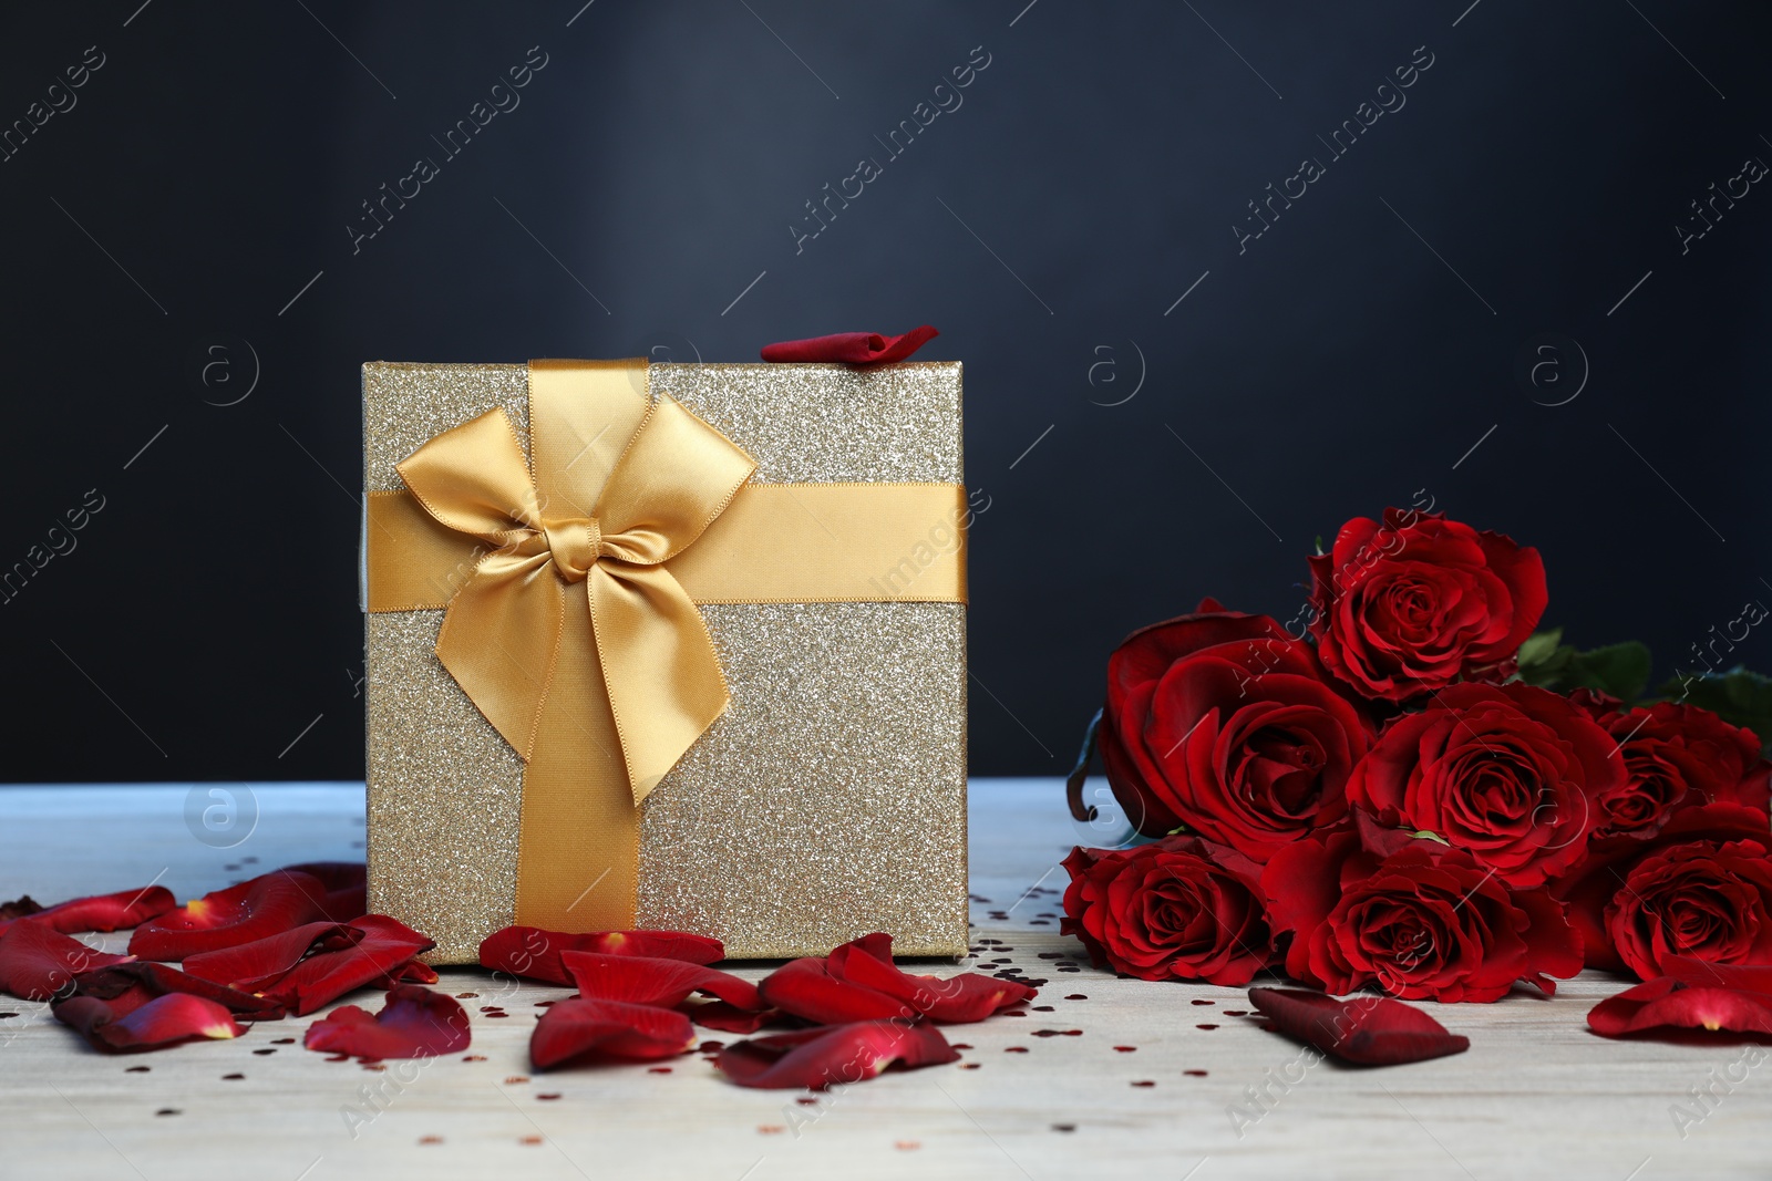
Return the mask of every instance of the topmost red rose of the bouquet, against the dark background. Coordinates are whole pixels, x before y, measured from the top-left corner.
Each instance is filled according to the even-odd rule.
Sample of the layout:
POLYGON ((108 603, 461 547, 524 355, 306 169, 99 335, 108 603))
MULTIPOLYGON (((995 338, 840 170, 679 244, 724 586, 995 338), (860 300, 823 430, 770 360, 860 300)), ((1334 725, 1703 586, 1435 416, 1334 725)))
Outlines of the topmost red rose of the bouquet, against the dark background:
POLYGON ((1324 666, 1384 701, 1510 675, 1547 602, 1536 549, 1444 513, 1356 517, 1310 561, 1324 666))

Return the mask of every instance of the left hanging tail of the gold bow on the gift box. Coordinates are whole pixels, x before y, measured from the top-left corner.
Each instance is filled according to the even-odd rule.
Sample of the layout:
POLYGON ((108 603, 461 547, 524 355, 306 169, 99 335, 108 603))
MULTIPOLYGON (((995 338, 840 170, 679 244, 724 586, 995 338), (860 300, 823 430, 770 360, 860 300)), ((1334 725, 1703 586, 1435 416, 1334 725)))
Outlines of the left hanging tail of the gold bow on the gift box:
POLYGON ((438 632, 438 659, 523 761, 535 753, 560 659, 565 588, 553 561, 507 551, 480 560, 438 632))

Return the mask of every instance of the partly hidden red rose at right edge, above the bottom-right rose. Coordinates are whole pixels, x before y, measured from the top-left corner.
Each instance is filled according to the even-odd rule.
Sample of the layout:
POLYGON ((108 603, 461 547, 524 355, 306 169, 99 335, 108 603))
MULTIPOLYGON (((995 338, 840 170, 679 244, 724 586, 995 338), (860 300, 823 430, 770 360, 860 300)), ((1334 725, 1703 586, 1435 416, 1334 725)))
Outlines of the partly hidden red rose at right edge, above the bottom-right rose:
POLYGON ((1625 710, 1616 698, 1577 689, 1570 701, 1613 735, 1625 756, 1625 783, 1600 795, 1595 838, 1660 832, 1675 809, 1744 804, 1767 811, 1772 763, 1760 738, 1696 705, 1659 701, 1625 710))

